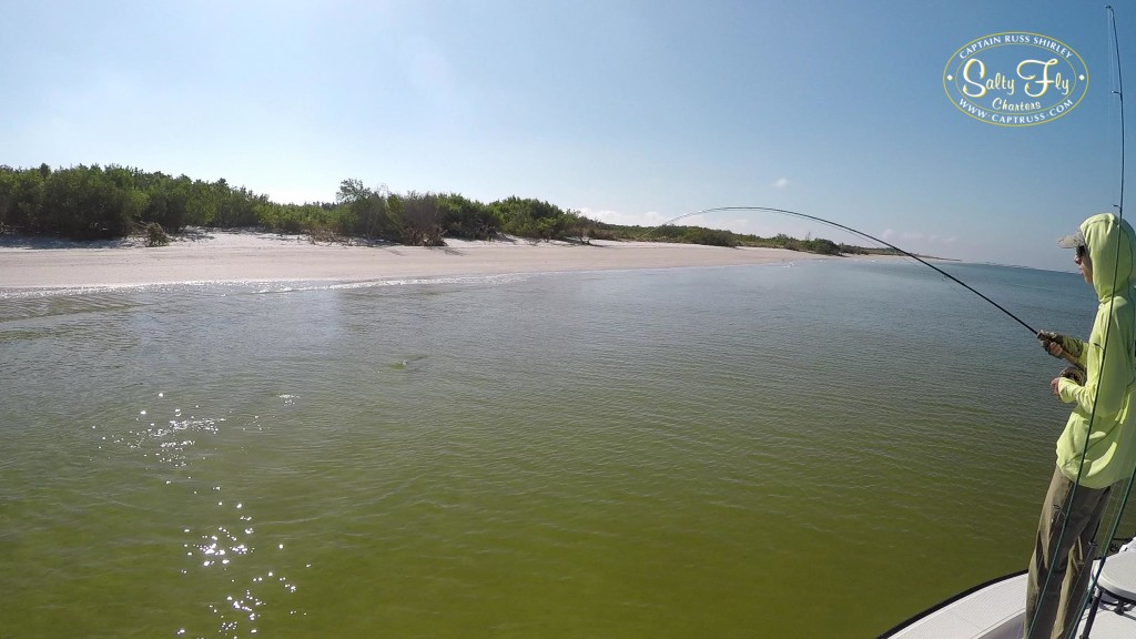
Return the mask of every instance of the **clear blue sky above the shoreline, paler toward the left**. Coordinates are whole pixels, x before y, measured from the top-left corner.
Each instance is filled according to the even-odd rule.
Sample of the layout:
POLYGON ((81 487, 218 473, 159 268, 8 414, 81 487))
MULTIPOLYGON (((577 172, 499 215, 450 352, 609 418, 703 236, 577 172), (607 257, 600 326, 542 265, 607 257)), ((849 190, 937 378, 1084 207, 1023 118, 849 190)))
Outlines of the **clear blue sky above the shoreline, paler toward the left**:
MULTIPOLYGON (((1116 5, 1120 72, 1136 88, 1136 2, 1116 5)), ((281 202, 331 201, 358 179, 649 226, 780 208, 911 252, 1054 271, 1075 269, 1056 238, 1121 204, 1104 2, 0 0, 0 164, 12 167, 224 177, 281 202), (949 63, 1010 32, 1084 60, 1087 90, 1077 85, 1071 110, 1011 127, 955 106, 949 63)), ((1136 159, 1125 169, 1136 188, 1134 171, 1136 159)), ((871 244, 771 213, 684 223, 871 244)))

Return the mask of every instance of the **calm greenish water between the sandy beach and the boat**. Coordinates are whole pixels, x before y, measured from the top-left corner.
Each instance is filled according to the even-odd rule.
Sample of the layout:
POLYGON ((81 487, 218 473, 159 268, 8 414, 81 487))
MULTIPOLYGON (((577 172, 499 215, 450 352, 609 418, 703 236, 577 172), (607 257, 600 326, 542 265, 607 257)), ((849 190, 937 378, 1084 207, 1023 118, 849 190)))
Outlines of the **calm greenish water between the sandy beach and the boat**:
POLYGON ((0 637, 871 637, 1025 566, 1060 367, 901 262, 0 291, 0 637))

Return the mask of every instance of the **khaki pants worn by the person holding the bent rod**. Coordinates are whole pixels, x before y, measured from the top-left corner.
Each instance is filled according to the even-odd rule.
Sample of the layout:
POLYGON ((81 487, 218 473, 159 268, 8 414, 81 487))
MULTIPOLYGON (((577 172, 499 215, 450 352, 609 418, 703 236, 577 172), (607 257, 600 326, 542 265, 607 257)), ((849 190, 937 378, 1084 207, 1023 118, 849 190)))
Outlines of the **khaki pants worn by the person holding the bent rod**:
POLYGON ((1108 488, 1077 486, 1053 472, 1037 524, 1037 543, 1029 562, 1026 591, 1026 639, 1072 638, 1080 622, 1085 591, 1092 579, 1093 537, 1108 504, 1108 488), (1072 503, 1069 493, 1075 492, 1072 503), (1052 574, 1050 574, 1052 572, 1052 574), (1043 592, 1044 589, 1044 592, 1043 592))

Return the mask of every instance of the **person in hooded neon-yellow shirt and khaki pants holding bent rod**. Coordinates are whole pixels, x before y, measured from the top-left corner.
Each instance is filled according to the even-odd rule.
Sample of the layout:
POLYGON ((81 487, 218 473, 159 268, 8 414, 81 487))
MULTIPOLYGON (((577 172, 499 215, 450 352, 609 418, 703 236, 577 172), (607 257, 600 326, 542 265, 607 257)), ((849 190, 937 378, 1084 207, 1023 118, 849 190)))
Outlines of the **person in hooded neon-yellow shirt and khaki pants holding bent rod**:
POLYGON ((1072 413, 1058 439, 1056 468, 1042 504, 1029 562, 1026 639, 1072 637, 1087 601, 1094 538, 1112 484, 1136 464, 1136 233, 1112 214, 1094 215, 1058 241, 1096 291, 1088 341, 1041 331, 1045 350, 1072 365, 1050 382, 1072 413), (1087 446, 1086 446, 1087 438, 1087 446))

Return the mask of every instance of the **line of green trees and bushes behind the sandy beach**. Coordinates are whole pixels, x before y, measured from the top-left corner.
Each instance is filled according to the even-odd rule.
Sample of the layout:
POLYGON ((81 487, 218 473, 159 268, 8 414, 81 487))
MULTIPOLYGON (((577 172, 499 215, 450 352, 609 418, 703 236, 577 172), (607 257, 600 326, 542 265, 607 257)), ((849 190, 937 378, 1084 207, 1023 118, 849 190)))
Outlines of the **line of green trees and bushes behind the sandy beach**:
POLYGON ((224 179, 206 182, 118 165, 56 169, 45 164, 37 168, 0 166, 0 233, 101 240, 149 231, 154 240, 186 226, 260 227, 308 233, 314 240, 354 238, 412 246, 442 246, 444 238, 484 240, 507 234, 533 240, 775 247, 827 255, 880 252, 784 234, 759 238, 700 226, 620 226, 533 198, 483 204, 458 193, 394 193, 356 179, 340 183, 333 202, 298 205, 274 202, 224 179))

